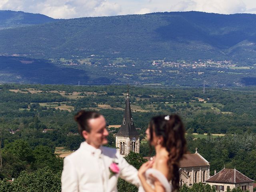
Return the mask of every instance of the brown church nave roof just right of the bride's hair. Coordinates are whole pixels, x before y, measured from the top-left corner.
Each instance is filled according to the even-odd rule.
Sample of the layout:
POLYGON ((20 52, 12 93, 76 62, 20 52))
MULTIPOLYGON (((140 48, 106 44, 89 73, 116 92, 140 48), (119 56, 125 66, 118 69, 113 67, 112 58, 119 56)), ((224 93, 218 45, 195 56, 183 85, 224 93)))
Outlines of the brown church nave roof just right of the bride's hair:
POLYGON ((180 161, 180 167, 199 167, 209 166, 209 162, 206 161, 198 152, 194 154, 185 154, 180 161))

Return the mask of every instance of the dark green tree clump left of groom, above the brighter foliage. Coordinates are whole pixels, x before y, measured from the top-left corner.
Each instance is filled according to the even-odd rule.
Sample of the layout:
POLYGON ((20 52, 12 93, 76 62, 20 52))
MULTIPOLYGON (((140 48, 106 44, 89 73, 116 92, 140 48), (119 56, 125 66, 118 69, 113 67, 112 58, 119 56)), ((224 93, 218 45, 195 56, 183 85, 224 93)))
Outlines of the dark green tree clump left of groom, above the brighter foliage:
POLYGON ((31 172, 48 166, 58 172, 63 167, 63 159, 56 157, 50 147, 39 145, 33 150, 24 139, 6 144, 2 149, 2 157, 1 178, 16 178, 22 170, 31 172))

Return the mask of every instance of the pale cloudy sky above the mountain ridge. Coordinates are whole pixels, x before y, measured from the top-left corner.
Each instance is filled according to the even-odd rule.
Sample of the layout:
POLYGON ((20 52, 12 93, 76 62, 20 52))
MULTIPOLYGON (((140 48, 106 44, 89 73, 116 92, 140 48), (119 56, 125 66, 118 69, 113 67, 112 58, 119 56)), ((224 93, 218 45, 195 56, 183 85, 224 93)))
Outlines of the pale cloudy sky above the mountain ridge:
POLYGON ((0 10, 40 13, 56 19, 191 10, 256 14, 256 0, 0 0, 0 10))

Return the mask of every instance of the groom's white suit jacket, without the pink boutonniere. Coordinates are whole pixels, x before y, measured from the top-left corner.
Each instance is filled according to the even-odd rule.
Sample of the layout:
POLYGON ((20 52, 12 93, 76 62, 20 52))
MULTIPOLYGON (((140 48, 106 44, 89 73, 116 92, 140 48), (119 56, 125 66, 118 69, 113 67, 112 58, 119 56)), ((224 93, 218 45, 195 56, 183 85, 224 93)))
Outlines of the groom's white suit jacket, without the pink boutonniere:
POLYGON ((138 171, 126 162, 115 148, 82 142, 76 152, 64 158, 62 192, 117 192, 118 177, 140 185, 138 171), (120 172, 110 177, 109 166, 118 163, 120 172))

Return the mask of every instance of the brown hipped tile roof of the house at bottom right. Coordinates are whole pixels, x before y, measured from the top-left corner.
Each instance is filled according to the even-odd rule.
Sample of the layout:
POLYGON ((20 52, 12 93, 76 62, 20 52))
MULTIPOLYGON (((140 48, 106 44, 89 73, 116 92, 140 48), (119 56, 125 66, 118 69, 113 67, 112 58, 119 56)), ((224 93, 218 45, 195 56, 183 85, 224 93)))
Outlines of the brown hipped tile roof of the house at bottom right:
POLYGON ((222 169, 220 172, 212 176, 206 182, 218 182, 218 183, 247 183, 253 182, 250 178, 240 173, 236 169, 222 169))

